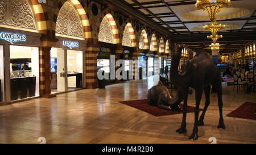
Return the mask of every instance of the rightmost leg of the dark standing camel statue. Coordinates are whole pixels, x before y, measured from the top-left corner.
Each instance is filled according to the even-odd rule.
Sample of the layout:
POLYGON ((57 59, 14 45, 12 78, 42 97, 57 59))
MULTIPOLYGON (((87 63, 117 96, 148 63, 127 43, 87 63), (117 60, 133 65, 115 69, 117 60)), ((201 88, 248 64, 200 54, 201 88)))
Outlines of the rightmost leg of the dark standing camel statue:
POLYGON ((223 120, 223 115, 222 115, 223 102, 222 102, 221 80, 218 79, 218 81, 216 81, 215 85, 216 85, 217 96, 218 96, 218 110, 220 112, 220 120, 218 122, 218 128, 224 128, 225 129, 226 127, 225 127, 224 120, 223 120))

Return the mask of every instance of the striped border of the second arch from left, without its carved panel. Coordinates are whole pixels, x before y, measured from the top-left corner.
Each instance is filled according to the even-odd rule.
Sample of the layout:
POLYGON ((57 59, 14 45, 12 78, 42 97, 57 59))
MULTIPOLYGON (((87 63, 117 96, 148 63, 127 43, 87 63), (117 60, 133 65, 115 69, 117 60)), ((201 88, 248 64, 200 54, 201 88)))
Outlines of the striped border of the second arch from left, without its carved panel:
POLYGON ((61 7, 64 5, 65 2, 69 2, 75 8, 77 14, 79 15, 81 25, 82 25, 84 39, 92 40, 92 26, 90 25, 88 15, 85 12, 85 9, 84 9, 85 5, 83 2, 81 2, 79 0, 62 0, 59 2, 59 4, 57 5, 57 9, 55 11, 54 17, 53 17, 53 24, 52 24, 52 33, 53 34, 52 35, 55 36, 57 17, 59 15, 61 7))

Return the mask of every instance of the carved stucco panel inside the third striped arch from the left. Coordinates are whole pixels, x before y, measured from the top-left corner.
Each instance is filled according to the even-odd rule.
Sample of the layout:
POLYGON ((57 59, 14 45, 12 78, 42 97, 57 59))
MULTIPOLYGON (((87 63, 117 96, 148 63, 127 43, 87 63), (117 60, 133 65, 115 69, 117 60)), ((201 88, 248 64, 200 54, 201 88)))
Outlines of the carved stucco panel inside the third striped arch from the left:
POLYGON ((106 18, 106 16, 102 19, 102 22, 100 25, 100 31, 98 33, 98 41, 114 44, 112 29, 110 27, 109 21, 106 18))

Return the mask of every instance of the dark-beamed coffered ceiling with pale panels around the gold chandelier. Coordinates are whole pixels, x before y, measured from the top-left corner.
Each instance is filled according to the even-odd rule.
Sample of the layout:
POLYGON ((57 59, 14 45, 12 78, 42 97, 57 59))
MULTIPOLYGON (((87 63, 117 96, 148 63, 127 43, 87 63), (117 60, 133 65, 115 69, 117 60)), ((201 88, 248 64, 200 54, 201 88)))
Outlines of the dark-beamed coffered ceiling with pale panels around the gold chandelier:
MULTIPOLYGON (((210 33, 202 28, 205 24, 209 24, 208 13, 196 10, 196 0, 119 0, 119 2, 122 2, 127 9, 138 12, 146 20, 154 22, 175 43, 185 43, 195 50, 208 49, 209 44, 212 43, 212 40, 206 38, 210 33)), ((216 15, 217 23, 226 24, 225 30, 218 31, 218 34, 223 35, 223 39, 218 40, 222 52, 236 51, 248 41, 256 40, 255 2, 255 0, 231 0, 228 8, 221 9, 216 15)), ((109 2, 110 5, 111 3, 109 2)))

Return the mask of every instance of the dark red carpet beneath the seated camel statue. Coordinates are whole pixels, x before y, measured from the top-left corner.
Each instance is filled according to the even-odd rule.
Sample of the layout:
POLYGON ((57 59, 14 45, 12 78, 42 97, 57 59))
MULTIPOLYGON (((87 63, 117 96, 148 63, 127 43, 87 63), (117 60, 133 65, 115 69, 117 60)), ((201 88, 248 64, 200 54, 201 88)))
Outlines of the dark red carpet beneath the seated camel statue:
MULTIPOLYGON (((183 104, 180 104, 180 107, 181 107, 180 110, 174 111, 174 110, 165 110, 162 108, 158 108, 156 106, 150 106, 147 104, 147 99, 120 101, 120 103, 137 108, 138 110, 147 112, 154 116, 183 114, 183 104)), ((188 106, 187 108, 187 112, 193 112, 194 110, 195 110, 195 107, 188 106)), ((200 109, 200 111, 201 110, 202 109, 200 109)))

